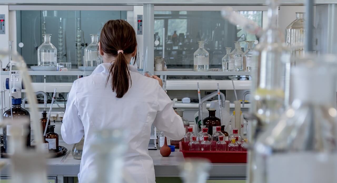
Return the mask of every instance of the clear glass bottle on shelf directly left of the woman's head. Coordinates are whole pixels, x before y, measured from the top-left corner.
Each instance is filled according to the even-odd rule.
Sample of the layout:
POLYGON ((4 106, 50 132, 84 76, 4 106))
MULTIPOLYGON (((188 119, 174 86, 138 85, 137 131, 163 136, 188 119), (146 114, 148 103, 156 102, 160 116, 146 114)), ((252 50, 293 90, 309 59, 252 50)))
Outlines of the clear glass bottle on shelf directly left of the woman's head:
POLYGON ((98 54, 98 34, 90 34, 91 43, 84 49, 84 67, 97 67, 102 63, 98 54))

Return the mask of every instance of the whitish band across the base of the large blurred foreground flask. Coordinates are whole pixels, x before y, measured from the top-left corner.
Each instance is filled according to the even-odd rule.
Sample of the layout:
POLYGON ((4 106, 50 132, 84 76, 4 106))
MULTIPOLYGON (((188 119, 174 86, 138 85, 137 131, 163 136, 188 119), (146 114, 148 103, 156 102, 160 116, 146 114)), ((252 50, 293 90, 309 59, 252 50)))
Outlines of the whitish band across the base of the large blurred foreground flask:
POLYGON ((336 153, 284 153, 267 158, 267 182, 336 182, 336 153), (285 176, 286 175, 286 176, 285 176))

